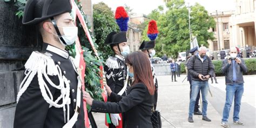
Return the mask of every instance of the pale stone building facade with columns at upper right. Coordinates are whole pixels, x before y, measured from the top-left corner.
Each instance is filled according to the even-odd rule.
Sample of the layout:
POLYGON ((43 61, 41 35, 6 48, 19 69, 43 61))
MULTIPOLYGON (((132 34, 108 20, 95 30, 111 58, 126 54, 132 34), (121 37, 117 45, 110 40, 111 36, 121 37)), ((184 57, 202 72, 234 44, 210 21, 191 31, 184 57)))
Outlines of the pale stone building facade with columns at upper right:
POLYGON ((244 49, 248 45, 251 49, 256 49, 256 0, 234 0, 236 8, 234 11, 213 12, 212 15, 219 25, 210 29, 214 32, 214 41, 208 41, 209 49, 218 50, 218 38, 220 40, 220 49, 230 49, 237 46, 244 49))

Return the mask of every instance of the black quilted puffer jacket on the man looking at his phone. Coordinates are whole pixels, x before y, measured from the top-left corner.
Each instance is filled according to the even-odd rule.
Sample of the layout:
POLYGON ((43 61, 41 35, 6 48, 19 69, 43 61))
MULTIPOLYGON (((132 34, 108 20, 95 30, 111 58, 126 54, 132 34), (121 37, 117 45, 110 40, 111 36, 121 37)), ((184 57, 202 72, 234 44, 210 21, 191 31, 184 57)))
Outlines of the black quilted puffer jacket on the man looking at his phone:
POLYGON ((187 65, 188 73, 191 75, 192 80, 199 80, 198 75, 201 74, 203 76, 210 75, 213 76, 214 66, 212 64, 212 60, 208 57, 204 57, 204 61, 199 58, 199 55, 192 56, 188 61, 187 65))

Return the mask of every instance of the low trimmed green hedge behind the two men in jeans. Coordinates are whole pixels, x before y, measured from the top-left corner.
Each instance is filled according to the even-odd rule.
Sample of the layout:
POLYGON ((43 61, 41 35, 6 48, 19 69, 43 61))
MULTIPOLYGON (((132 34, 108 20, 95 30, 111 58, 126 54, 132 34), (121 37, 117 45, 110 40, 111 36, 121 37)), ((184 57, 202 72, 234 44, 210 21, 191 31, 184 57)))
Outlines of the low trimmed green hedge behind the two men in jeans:
MULTIPOLYGON (((212 63, 215 66, 215 74, 216 76, 224 76, 224 74, 221 72, 221 65, 223 60, 213 60, 212 63)), ((244 59, 245 65, 248 69, 247 73, 245 75, 255 75, 256 74, 256 58, 248 58, 244 59)), ((185 71, 185 63, 181 63, 180 65, 181 73, 186 73, 185 71)))

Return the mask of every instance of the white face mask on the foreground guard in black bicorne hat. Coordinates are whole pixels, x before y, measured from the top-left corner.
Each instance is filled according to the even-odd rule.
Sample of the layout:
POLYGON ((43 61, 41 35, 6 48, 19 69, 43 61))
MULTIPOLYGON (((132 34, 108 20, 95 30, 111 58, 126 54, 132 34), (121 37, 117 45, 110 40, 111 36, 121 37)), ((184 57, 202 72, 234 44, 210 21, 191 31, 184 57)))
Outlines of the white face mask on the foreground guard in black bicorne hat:
MULTIPOLYGON (((63 33, 64 33, 64 35, 62 35, 62 38, 64 39, 66 44, 64 44, 58 37, 59 41, 62 45, 66 46, 66 45, 71 45, 71 44, 75 43, 75 41, 77 39, 77 34, 78 34, 78 28, 76 26, 69 26, 69 27, 58 26, 58 27, 62 28, 63 33)), ((54 34, 54 35, 56 35, 56 34, 54 34)))

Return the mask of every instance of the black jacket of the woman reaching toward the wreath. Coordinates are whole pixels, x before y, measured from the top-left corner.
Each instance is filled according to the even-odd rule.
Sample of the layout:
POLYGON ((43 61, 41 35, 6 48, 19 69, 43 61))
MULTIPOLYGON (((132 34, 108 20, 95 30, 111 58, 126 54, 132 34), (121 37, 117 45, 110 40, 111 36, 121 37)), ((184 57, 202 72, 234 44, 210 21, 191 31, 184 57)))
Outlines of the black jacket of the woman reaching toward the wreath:
POLYGON ((121 113, 124 112, 124 128, 152 128, 151 114, 153 109, 153 96, 147 87, 138 83, 130 87, 127 96, 111 93, 111 98, 120 100, 117 103, 99 102, 93 100, 91 111, 121 113))

